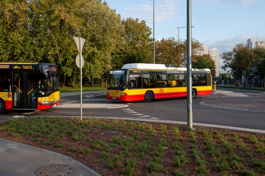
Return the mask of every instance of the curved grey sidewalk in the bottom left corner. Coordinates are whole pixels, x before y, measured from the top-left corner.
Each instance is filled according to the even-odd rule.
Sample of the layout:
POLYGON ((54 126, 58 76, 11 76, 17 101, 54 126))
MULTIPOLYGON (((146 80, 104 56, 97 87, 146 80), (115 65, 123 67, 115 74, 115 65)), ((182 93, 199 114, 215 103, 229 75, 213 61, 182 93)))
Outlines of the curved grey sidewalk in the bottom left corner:
POLYGON ((0 138, 0 176, 100 176, 61 154, 0 138))

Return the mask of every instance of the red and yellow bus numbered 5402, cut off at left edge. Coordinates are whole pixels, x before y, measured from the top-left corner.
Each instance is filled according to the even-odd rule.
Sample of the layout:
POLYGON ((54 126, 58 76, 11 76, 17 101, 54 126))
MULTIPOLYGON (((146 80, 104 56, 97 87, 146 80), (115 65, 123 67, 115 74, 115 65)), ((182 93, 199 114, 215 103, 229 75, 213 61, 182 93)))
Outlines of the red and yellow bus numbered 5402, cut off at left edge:
POLYGON ((45 63, 0 62, 0 114, 43 110, 60 103, 58 69, 45 63))

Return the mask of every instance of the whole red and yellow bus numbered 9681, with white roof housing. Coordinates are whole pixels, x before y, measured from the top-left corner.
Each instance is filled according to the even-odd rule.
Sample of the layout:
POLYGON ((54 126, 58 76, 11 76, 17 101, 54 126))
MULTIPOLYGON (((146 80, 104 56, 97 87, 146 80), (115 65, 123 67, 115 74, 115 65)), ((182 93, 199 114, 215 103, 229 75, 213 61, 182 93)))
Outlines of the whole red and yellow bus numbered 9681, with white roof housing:
MULTIPOLYGON (((192 69, 192 97, 212 93, 210 69, 192 69)), ((145 101, 187 97, 187 69, 163 64, 125 64, 109 71, 107 99, 145 101)))

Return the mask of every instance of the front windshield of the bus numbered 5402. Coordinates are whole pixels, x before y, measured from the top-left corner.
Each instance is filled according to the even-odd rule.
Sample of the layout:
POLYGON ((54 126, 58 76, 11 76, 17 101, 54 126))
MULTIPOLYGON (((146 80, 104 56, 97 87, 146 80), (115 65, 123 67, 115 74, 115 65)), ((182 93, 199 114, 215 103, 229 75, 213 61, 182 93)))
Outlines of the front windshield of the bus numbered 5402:
POLYGON ((54 65, 41 65, 39 76, 39 96, 45 97, 59 89, 57 67, 54 65))

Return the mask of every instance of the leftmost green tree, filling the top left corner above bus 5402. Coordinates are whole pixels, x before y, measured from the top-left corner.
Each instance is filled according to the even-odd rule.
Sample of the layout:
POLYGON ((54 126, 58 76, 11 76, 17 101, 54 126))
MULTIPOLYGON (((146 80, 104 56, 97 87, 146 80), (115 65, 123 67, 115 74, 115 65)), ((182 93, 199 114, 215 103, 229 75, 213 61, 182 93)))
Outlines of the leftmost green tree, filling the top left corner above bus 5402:
POLYGON ((40 52, 28 30, 29 3, 26 0, 0 2, 0 61, 34 62, 40 52))

